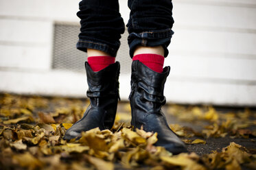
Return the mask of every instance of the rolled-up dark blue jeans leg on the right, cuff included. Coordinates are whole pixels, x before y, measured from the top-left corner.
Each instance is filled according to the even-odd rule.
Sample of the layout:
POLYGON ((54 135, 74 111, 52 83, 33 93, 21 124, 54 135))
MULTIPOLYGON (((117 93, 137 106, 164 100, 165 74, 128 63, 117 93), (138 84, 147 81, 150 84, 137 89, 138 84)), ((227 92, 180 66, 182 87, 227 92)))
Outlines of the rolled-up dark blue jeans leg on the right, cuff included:
POLYGON ((128 0, 130 19, 128 21, 128 44, 130 57, 138 47, 162 46, 167 57, 167 46, 174 32, 172 26, 172 0, 128 0))

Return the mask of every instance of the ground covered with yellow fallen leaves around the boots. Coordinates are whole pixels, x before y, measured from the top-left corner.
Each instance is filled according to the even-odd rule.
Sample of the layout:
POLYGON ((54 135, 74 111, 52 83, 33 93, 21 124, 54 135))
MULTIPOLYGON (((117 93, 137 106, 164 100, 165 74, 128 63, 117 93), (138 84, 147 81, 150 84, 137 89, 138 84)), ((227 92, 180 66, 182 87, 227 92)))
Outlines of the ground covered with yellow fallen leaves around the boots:
POLYGON ((154 147, 157 134, 132 130, 128 102, 119 102, 112 130, 63 140, 88 105, 87 99, 1 94, 1 169, 256 169, 255 108, 166 104, 167 121, 189 151, 173 156, 154 147))

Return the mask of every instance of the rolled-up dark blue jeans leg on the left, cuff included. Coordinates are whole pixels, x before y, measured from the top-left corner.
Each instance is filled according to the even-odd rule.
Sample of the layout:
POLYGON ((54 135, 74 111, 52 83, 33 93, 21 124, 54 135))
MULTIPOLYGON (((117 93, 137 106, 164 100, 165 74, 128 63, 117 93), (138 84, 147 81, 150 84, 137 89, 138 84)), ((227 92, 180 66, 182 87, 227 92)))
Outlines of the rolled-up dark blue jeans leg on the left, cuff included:
POLYGON ((77 15, 81 19, 81 32, 76 47, 85 52, 96 49, 115 57, 120 46, 120 34, 124 33, 118 0, 83 0, 79 9, 77 15))

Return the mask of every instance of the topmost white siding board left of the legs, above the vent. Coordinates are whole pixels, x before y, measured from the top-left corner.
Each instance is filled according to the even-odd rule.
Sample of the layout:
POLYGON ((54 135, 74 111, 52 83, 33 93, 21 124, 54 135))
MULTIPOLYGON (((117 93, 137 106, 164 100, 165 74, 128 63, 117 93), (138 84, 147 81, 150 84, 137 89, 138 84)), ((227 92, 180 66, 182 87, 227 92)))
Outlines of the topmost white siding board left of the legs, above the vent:
POLYGON ((19 16, 28 19, 79 21, 80 0, 9 0, 0 1, 0 16, 19 16))

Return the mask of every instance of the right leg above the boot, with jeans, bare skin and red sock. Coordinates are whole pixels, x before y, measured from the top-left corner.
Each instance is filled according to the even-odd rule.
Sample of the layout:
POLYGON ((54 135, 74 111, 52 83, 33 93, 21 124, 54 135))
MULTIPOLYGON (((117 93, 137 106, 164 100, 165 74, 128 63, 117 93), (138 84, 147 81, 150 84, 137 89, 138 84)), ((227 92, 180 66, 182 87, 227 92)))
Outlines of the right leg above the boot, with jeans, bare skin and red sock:
POLYGON ((130 57, 153 71, 163 71, 164 57, 168 54, 167 46, 173 34, 172 1, 130 0, 128 5, 131 10, 127 25, 130 57))

